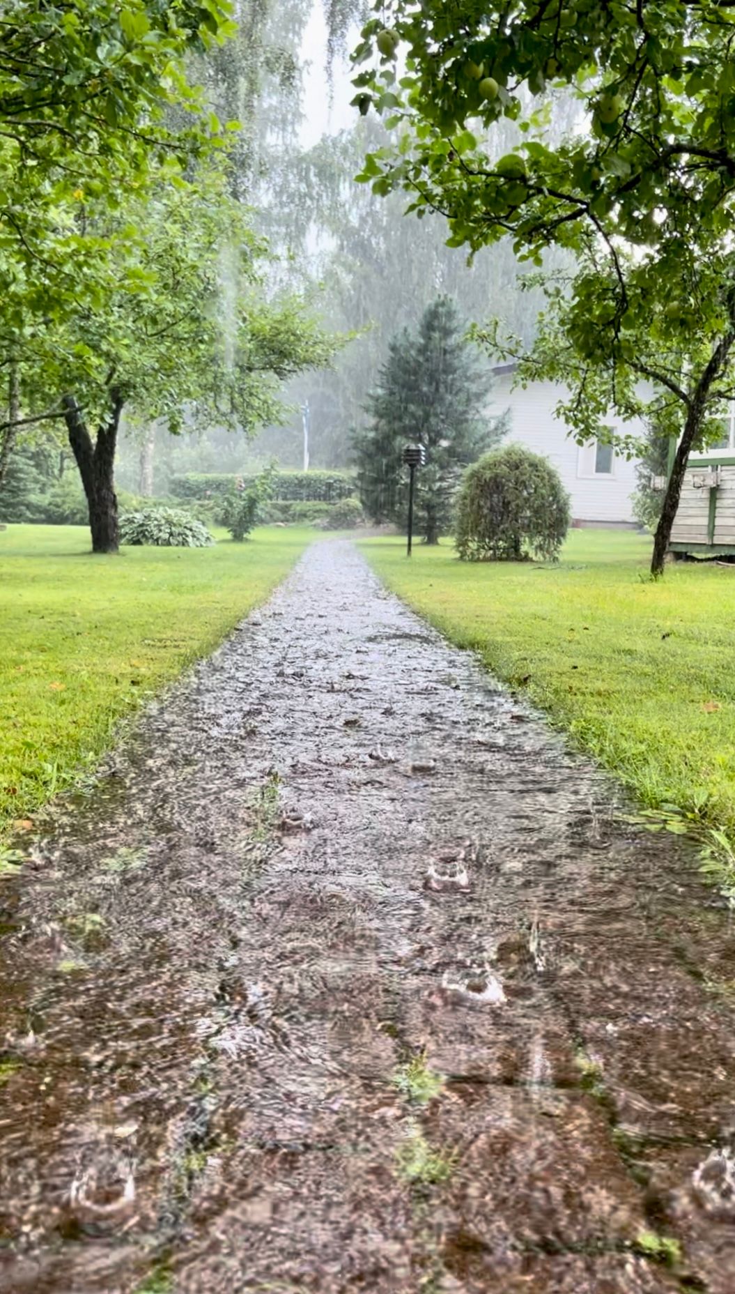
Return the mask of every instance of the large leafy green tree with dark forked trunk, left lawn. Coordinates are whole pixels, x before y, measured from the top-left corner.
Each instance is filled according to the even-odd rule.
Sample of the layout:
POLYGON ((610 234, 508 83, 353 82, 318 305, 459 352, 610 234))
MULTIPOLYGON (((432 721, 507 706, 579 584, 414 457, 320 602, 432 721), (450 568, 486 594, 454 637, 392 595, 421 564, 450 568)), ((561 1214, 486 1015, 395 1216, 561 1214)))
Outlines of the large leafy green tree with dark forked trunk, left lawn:
MULTIPOLYGON (((237 5, 251 34, 261 10, 237 5)), ((118 545, 124 408, 252 432, 336 345, 265 287, 238 123, 194 75, 238 34, 224 0, 10 0, 0 19, 0 487, 18 433, 63 418, 97 551, 118 545)))

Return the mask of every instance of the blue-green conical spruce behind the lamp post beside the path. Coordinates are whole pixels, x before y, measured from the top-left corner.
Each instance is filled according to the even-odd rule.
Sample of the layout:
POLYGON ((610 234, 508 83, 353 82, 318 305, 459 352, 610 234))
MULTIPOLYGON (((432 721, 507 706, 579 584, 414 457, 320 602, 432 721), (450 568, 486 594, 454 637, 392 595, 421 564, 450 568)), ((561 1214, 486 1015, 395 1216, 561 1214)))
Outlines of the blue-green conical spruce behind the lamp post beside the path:
POLYGON ((465 338, 457 305, 439 296, 388 347, 378 386, 368 401, 370 426, 356 433, 360 497, 375 520, 405 525, 405 445, 423 445, 417 474, 414 525, 424 543, 439 543, 452 520, 462 470, 503 435, 502 419, 487 414, 490 373, 465 338))

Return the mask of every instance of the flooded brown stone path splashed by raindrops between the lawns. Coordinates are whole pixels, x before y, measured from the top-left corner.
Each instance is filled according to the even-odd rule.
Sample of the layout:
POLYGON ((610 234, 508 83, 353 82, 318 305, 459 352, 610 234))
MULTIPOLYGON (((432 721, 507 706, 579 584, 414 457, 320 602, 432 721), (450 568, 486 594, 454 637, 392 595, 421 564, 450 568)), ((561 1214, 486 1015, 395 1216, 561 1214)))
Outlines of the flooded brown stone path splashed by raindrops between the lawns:
POLYGON ((735 934, 613 807, 314 543, 4 883, 0 1289, 734 1294, 735 934))

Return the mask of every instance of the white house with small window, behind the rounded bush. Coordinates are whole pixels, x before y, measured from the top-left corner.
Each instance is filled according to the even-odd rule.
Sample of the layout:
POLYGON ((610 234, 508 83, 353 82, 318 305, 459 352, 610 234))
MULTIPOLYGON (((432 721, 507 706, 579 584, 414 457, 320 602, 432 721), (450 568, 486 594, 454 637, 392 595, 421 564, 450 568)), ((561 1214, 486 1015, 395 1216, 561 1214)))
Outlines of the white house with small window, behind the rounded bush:
MULTIPOLYGON (((628 462, 612 445, 597 441, 575 444, 567 426, 554 417, 559 400, 567 393, 564 387, 554 382, 533 382, 525 389, 516 387, 514 391, 514 364, 498 365, 493 373, 489 411, 499 414, 507 409, 510 414, 510 431, 503 444, 525 445, 554 463, 571 497, 573 524, 635 525, 630 506, 637 485, 635 461, 628 462)), ((615 415, 606 422, 622 427, 621 419, 615 415)), ((644 435, 639 422, 625 423, 625 431, 641 437, 644 435)))

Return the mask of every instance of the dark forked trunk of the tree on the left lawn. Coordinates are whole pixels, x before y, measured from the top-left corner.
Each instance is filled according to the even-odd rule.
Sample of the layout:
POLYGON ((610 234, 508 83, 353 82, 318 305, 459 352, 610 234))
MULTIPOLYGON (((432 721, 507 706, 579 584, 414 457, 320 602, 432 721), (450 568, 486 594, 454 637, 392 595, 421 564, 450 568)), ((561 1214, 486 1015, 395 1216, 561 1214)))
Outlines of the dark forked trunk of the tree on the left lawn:
POLYGON ((116 553, 120 545, 114 474, 123 399, 118 391, 111 391, 110 401, 109 421, 98 428, 93 443, 76 400, 71 395, 63 397, 69 444, 79 467, 89 509, 93 553, 116 553))

